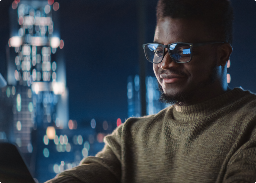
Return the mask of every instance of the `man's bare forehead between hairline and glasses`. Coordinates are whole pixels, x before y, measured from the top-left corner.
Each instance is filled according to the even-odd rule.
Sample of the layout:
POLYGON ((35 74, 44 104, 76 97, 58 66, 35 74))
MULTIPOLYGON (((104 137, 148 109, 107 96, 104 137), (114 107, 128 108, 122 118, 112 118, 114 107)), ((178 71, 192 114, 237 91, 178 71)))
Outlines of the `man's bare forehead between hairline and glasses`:
POLYGON ((170 44, 173 42, 206 42, 211 39, 202 21, 165 17, 157 23, 154 41, 170 44))

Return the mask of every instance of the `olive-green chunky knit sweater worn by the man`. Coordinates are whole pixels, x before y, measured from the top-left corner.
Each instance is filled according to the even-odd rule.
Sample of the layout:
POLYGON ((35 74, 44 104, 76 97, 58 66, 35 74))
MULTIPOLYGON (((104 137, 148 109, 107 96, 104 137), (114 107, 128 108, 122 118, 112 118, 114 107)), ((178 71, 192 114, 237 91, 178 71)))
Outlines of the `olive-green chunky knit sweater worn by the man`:
POLYGON ((52 183, 256 182, 256 95, 234 88, 190 106, 129 118, 95 157, 52 183))

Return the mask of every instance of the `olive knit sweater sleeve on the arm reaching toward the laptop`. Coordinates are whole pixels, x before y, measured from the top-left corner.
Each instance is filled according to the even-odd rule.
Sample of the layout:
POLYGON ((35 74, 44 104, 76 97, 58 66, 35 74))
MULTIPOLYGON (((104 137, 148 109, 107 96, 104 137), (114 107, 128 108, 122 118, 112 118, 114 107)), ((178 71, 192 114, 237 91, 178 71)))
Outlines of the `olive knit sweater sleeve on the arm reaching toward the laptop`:
POLYGON ((105 146, 96 156, 84 158, 80 164, 66 170, 46 183, 118 183, 121 179, 120 125, 111 135, 104 137, 105 146))

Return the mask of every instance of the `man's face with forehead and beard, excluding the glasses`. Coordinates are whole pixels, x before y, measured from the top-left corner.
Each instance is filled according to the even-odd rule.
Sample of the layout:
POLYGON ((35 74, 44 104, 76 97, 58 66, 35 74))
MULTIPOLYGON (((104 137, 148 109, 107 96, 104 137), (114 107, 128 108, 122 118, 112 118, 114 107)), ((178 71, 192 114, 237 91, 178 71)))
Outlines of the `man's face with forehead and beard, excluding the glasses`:
MULTIPOLYGON (((158 22, 154 37, 154 42, 165 45, 174 42, 210 41, 219 40, 213 40, 208 36, 202 22, 169 17, 158 22)), ((220 66, 216 63, 216 50, 216 45, 195 47, 192 60, 184 64, 174 62, 166 52, 161 63, 153 64, 164 97, 169 98, 173 103, 186 105, 186 103, 195 103, 194 101, 200 98, 200 93, 214 90, 220 75, 220 66)))

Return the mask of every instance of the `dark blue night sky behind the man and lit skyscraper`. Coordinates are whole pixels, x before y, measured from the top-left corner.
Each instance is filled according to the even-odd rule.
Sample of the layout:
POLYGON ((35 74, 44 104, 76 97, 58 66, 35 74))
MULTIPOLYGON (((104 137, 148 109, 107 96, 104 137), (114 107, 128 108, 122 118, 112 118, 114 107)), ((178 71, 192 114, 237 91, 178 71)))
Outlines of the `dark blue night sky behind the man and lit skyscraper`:
MULTIPOLYGON (((127 78, 139 73, 136 0, 60 0, 60 38, 64 40, 69 116, 79 124, 96 120, 122 122, 127 115, 127 78)), ((156 0, 147 2, 146 42, 153 41, 156 0)), ((256 92, 256 1, 231 0, 234 41, 231 88, 256 92)), ((8 9, 0 2, 0 72, 5 68, 9 37, 8 9)), ((147 75, 154 76, 147 63, 147 75)), ((96 121, 97 122, 97 121, 96 121)))

